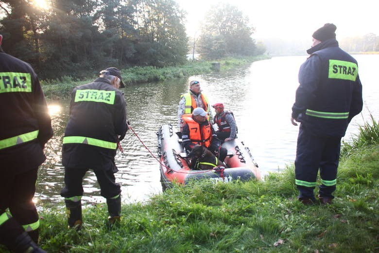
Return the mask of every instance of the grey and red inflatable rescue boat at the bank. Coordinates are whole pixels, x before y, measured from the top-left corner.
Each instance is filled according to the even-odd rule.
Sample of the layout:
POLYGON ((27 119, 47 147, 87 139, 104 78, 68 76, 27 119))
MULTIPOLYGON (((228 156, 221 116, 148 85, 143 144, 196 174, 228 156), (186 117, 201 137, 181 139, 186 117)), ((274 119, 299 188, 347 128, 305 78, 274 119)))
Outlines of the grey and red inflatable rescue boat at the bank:
POLYGON ((181 139, 172 125, 163 125, 156 134, 160 181, 163 191, 171 188, 172 183, 186 184, 190 180, 202 179, 213 182, 260 180, 258 164, 254 161, 249 148, 238 138, 222 144, 227 149, 228 154, 224 160, 224 168, 194 170, 189 168, 189 158, 187 158, 181 139))

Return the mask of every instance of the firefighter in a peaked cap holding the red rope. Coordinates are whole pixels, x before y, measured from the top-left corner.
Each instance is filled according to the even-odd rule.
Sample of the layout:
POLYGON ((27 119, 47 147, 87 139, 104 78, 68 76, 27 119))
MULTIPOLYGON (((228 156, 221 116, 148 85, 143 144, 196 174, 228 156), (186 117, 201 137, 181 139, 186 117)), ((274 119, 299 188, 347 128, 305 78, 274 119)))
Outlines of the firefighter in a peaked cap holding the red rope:
POLYGON ((109 221, 120 220, 121 187, 115 182, 118 171, 115 156, 118 142, 128 129, 126 105, 117 68, 100 72, 92 83, 72 91, 69 122, 62 147, 65 166, 65 198, 69 227, 82 225, 82 180, 88 169, 93 169, 99 182, 101 195, 106 199, 109 221))

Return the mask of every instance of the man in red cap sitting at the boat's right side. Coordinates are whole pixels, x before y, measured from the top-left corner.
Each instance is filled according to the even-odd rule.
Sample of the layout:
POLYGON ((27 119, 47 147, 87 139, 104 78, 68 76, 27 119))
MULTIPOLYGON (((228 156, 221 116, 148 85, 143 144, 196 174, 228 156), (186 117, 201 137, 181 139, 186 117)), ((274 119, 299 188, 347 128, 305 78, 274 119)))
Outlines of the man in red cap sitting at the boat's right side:
POLYGON ((219 130, 216 131, 217 138, 223 142, 237 138, 237 124, 232 112, 224 111, 223 103, 216 103, 212 107, 216 111, 213 122, 217 124, 219 128, 219 130))

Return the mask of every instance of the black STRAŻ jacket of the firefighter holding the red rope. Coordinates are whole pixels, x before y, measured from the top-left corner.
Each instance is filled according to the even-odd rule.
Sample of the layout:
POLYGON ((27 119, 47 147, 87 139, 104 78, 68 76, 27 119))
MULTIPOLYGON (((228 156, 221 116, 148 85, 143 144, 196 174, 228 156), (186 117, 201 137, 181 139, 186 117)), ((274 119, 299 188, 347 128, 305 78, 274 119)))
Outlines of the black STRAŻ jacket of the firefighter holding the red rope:
MULTIPOLYGON (((123 93, 111 86, 107 79, 100 77, 92 83, 78 86, 72 91, 70 117, 65 137, 81 136, 117 143, 125 136, 126 121, 123 93), (95 101, 75 102, 77 90, 115 91, 114 104, 95 101)), ((115 155, 116 149, 69 143, 62 147, 62 164, 69 168, 112 169, 116 172, 115 155)))

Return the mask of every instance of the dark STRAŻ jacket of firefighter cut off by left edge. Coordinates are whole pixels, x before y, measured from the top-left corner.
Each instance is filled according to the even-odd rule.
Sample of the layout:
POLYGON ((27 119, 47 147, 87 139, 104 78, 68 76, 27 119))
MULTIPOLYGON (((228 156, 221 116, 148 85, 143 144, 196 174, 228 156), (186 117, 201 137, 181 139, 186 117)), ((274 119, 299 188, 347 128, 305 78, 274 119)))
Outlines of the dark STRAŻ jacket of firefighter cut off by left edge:
POLYGON ((32 67, 1 47, 0 107, 0 140, 38 130, 37 139, 0 149, 0 172, 17 174, 39 166, 46 159, 43 146, 53 134, 46 99, 32 67), (25 78, 29 74, 30 80, 25 78))

